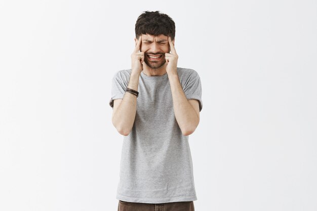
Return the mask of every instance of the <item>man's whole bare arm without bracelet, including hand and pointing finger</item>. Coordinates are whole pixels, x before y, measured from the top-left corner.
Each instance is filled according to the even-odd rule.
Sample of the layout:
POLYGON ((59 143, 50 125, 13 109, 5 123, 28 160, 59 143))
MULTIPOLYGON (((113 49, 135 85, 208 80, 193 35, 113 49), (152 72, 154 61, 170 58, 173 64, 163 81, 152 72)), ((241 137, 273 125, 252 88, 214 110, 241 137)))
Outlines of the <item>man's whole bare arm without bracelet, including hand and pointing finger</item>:
POLYGON ((184 136, 192 134, 199 124, 199 102, 194 99, 187 100, 177 75, 177 60, 174 44, 168 37, 171 53, 165 54, 166 72, 169 77, 173 98, 175 118, 184 136))

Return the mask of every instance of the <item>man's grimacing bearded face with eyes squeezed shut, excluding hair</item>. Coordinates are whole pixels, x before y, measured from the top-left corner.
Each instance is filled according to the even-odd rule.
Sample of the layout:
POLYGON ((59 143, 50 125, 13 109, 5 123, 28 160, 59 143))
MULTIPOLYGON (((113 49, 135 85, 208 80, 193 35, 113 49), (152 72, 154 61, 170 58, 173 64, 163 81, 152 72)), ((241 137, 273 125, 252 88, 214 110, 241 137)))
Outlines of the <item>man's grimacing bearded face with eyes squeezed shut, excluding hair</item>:
MULTIPOLYGON (((138 40, 135 40, 137 43, 138 40)), ((147 66, 152 69, 162 67, 166 62, 165 53, 170 52, 168 36, 142 34, 141 52, 144 52, 144 62, 147 66)))

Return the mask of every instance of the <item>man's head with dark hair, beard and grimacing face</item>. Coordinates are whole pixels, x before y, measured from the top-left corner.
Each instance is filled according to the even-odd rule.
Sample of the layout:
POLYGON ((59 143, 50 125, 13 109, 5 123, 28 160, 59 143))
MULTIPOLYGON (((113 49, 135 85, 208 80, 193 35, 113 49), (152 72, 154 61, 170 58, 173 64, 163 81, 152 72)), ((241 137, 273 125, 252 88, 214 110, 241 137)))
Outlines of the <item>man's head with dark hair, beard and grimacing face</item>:
POLYGON ((165 53, 170 52, 168 36, 174 45, 175 23, 171 17, 159 11, 146 11, 137 19, 135 36, 136 43, 139 36, 142 36, 141 52, 144 52, 144 62, 150 68, 160 68, 166 62, 165 53), (157 56, 160 57, 153 58, 157 56))

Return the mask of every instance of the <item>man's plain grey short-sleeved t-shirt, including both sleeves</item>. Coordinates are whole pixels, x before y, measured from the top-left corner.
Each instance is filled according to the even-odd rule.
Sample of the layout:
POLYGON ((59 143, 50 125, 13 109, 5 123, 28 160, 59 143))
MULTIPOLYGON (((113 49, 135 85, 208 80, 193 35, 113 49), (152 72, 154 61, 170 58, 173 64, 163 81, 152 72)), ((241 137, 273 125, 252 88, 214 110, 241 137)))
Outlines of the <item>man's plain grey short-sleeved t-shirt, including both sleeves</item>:
MULTIPOLYGON (((123 99, 131 69, 117 71, 112 79, 110 106, 123 99)), ((177 68, 187 100, 203 108, 198 73, 177 68)), ((168 74, 139 77, 139 97, 133 128, 124 136, 118 200, 167 203, 197 200, 188 136, 183 136, 175 118, 168 74)))

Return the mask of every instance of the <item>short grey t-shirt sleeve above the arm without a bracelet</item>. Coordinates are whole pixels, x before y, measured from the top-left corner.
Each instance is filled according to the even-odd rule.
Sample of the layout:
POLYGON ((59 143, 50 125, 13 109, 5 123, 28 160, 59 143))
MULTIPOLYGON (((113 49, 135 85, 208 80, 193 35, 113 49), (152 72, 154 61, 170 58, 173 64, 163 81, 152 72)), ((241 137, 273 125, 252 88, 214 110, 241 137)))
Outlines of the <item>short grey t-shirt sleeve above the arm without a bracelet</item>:
POLYGON ((202 101, 202 82, 201 78, 196 75, 193 79, 188 81, 183 88, 187 100, 195 99, 199 101, 199 111, 203 109, 202 101))

